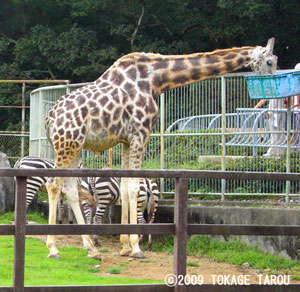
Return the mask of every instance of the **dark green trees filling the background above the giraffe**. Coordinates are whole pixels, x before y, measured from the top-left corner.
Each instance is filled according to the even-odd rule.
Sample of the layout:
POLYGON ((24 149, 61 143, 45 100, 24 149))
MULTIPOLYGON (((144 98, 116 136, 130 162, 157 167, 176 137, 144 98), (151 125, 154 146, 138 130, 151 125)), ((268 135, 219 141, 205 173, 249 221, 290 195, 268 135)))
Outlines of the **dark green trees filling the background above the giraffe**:
MULTIPOLYGON (((297 0, 3 1, 0 75, 86 82, 132 51, 207 52, 264 45, 271 36, 279 66, 293 68, 300 60, 299 14, 297 0)), ((14 90, 0 90, 1 104, 20 105, 20 86, 9 87, 14 90)), ((212 92, 210 100, 217 99, 212 92)), ((2 109, 3 130, 20 130, 19 121, 18 111, 2 109)))

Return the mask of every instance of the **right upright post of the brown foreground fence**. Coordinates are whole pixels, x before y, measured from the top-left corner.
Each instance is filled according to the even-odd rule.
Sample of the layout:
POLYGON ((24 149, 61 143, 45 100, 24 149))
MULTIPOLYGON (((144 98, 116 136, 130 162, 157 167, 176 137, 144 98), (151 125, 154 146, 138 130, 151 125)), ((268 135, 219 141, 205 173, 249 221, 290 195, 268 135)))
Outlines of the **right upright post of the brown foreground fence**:
POLYGON ((186 275, 187 199, 188 179, 176 178, 174 202, 174 275, 180 281, 178 283, 180 285, 175 286, 175 292, 186 291, 184 277, 186 275))

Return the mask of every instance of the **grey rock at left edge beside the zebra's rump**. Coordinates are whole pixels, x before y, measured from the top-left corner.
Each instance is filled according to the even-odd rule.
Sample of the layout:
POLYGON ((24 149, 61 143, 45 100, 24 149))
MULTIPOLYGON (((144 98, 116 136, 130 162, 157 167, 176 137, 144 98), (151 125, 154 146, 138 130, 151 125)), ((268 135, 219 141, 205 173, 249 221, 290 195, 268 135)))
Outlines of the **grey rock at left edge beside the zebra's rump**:
MULTIPOLYGON (((10 168, 5 153, 0 152, 0 167, 10 168)), ((15 182, 13 177, 0 177, 0 214, 14 210, 15 182)))

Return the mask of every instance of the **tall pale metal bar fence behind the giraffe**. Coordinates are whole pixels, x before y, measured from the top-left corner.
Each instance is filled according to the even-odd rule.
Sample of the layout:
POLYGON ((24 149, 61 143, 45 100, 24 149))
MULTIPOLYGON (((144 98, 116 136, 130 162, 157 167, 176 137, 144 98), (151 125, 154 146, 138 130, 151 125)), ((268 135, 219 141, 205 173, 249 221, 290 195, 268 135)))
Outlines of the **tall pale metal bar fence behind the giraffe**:
MULTIPOLYGON (((144 155, 146 169, 203 169, 257 172, 299 172, 297 108, 283 100, 258 101, 248 95, 245 74, 227 74, 170 90, 157 99, 160 121, 144 155), (290 122, 289 125, 289 121, 290 122), (242 142, 241 142, 242 141, 242 142)), ((49 86, 31 93, 30 154, 53 157, 44 120, 55 101, 83 84, 49 86), (39 110, 41 109, 41 110, 39 110)), ((121 145, 113 148, 113 167, 121 167, 121 145)), ((86 167, 102 168, 108 151, 83 151, 86 167)), ((174 193, 174 181, 162 179, 161 191, 174 193)), ((297 182, 192 179, 190 195, 298 196, 297 182)))

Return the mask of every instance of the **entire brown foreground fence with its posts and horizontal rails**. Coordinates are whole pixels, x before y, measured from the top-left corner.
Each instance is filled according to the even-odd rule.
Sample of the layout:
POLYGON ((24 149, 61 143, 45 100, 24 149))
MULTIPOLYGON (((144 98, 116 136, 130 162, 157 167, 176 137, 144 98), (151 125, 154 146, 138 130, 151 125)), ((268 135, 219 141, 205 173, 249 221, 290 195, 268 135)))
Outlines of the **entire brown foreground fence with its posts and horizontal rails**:
POLYGON ((191 170, 80 170, 80 169, 0 169, 0 176, 16 177, 15 224, 0 225, 0 235, 14 235, 14 273, 13 287, 1 287, 1 292, 132 292, 132 291, 205 291, 205 292, 291 292, 300 291, 300 284, 287 286, 271 285, 236 285, 219 286, 177 285, 167 287, 165 284, 143 285, 101 285, 101 286, 25 286, 25 236, 47 234, 173 234, 174 235, 174 274, 186 275, 187 236, 191 234, 212 235, 300 235, 300 226, 273 225, 211 225, 187 223, 188 180, 192 178, 214 179, 252 179, 252 180, 288 180, 299 181, 300 174, 296 173, 261 173, 261 172, 224 172, 224 171, 191 171, 191 170), (103 224, 103 225, 27 225, 26 224, 26 179, 31 176, 45 177, 148 177, 175 178, 175 202, 173 224, 103 224), (283 290, 282 290, 283 289, 283 290))

